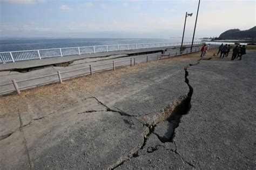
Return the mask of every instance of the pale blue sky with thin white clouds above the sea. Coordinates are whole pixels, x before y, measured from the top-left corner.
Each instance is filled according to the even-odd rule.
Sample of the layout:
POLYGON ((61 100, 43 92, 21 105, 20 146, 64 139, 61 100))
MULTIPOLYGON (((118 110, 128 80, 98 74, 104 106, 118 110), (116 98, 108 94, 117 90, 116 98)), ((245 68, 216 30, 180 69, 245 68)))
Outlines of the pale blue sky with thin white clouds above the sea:
MULTIPOLYGON (((198 0, 0 0, 0 37, 193 36, 198 0)), ((195 37, 255 26, 255 0, 201 0, 195 37)))

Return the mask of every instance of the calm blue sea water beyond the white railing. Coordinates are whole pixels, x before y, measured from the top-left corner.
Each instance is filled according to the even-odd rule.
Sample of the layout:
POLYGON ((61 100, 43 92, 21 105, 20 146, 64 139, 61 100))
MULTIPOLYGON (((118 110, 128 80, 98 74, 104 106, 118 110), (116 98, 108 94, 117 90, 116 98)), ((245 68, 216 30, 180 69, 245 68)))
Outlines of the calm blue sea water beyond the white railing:
MULTIPOLYGON (((194 39, 198 41, 198 39, 194 39)), ((63 47, 112 45, 112 44, 140 44, 140 43, 166 43, 181 42, 181 38, 10 38, 0 39, 0 52, 54 49, 63 47)), ((184 42, 191 42, 185 38, 184 42)))

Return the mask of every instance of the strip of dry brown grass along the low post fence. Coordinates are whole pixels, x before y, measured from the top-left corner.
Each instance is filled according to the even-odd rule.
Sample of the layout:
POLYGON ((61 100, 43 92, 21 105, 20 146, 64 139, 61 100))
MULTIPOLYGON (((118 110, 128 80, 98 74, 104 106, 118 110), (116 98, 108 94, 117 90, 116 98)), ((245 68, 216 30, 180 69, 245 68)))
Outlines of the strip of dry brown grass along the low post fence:
MULTIPOLYGON (((209 50, 207 56, 212 56, 216 50, 209 50)), ((147 70, 161 63, 171 64, 176 60, 197 60, 200 52, 188 55, 140 63, 136 66, 126 66, 118 68, 116 71, 104 71, 93 74, 93 76, 83 76, 63 81, 62 84, 51 84, 35 89, 25 90, 21 95, 11 94, 0 97, 0 118, 6 116, 17 116, 17 112, 40 112, 41 110, 58 110, 67 104, 76 103, 76 95, 83 96, 88 92, 93 92, 99 87, 116 86, 116 79, 125 74, 147 70)))

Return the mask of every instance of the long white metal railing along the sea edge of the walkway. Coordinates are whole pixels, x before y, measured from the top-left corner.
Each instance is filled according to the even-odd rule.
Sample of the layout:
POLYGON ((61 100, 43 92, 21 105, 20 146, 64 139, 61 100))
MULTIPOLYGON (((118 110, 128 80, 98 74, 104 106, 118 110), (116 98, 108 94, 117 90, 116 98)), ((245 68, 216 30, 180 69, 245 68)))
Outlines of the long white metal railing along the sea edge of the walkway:
MULTIPOLYGON (((202 42, 194 42, 194 45, 202 42)), ((190 45, 191 42, 184 42, 183 45, 190 45)), ((59 49, 41 49, 0 52, 0 63, 17 62, 21 60, 42 59, 50 57, 63 57, 71 55, 82 55, 87 53, 110 52, 120 50, 136 50, 152 47, 179 46, 181 43, 144 43, 144 44, 118 44, 118 45, 96 45, 81 47, 65 47, 59 49)))

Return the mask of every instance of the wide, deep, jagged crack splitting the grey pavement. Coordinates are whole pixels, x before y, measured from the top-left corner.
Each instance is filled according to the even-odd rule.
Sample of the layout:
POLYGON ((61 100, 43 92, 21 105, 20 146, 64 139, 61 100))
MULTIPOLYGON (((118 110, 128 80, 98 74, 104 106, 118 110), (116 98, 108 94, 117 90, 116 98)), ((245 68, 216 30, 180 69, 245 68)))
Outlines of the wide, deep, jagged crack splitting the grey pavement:
MULTIPOLYGON (((199 64, 199 60, 198 60, 197 64, 199 64)), ((183 115, 187 114, 188 111, 190 111, 190 108, 191 108, 191 97, 192 97, 192 94, 193 94, 193 87, 190 85, 189 80, 187 78, 187 76, 188 76, 187 68, 188 67, 189 66, 184 68, 185 83, 187 84, 188 89, 189 89, 188 93, 185 94, 184 96, 180 96, 171 105, 165 107, 164 111, 161 111, 157 115, 155 115, 154 118, 153 118, 152 123, 150 125, 147 125, 146 130, 143 132, 143 137, 144 137, 143 143, 139 144, 137 147, 133 148, 132 151, 130 151, 130 153, 128 155, 119 158, 119 160, 117 160, 117 162, 115 164, 109 166, 108 169, 115 169, 115 168, 119 167, 120 165, 123 165, 124 162, 130 161, 133 158, 139 157, 138 152, 145 147, 147 139, 149 138, 149 136, 152 133, 156 134, 158 139, 162 143, 164 143, 164 142, 173 142, 174 143, 173 138, 175 137, 175 129, 179 126, 181 117, 183 117, 183 115), (168 138, 160 137, 155 132, 155 129, 156 129, 157 125, 159 123, 163 122, 163 121, 168 121, 169 126, 172 126, 172 128, 168 128, 169 130, 171 130, 171 132, 169 132, 169 134, 171 134, 171 135, 169 135, 168 138)), ((154 151, 157 151, 157 149, 159 147, 162 147, 162 146, 157 145, 157 146, 153 146, 153 147, 148 147, 147 148, 147 153, 152 153, 154 151)), ((191 166, 192 168, 196 168, 190 162, 186 161, 183 157, 181 157, 181 155, 177 152, 177 147, 172 152, 177 154, 180 157, 180 159, 184 162, 184 164, 187 164, 187 165, 191 166)))

